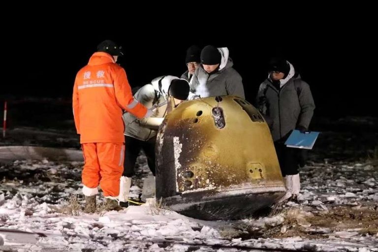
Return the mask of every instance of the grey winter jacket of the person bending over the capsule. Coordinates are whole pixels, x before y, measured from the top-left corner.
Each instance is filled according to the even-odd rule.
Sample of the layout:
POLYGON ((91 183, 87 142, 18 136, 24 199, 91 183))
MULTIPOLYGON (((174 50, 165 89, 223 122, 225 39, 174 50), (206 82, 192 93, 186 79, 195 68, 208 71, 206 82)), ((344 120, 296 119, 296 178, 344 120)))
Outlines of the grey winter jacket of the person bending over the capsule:
POLYGON ((125 135, 147 141, 156 137, 158 128, 162 123, 167 110, 167 92, 172 79, 176 76, 160 76, 144 85, 134 95, 134 98, 148 109, 156 107, 150 118, 138 119, 130 113, 123 115, 125 123, 125 135), (159 81, 160 86, 159 86, 159 81))

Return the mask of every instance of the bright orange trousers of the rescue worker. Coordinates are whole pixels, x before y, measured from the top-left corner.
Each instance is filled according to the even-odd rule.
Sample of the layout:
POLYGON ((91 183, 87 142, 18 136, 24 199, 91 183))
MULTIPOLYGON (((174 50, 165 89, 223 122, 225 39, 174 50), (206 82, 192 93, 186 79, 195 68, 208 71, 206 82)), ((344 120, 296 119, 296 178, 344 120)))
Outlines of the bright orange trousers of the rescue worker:
POLYGON ((82 144, 84 168, 82 182, 88 188, 100 185, 104 196, 120 194, 120 178, 124 171, 124 143, 82 144))

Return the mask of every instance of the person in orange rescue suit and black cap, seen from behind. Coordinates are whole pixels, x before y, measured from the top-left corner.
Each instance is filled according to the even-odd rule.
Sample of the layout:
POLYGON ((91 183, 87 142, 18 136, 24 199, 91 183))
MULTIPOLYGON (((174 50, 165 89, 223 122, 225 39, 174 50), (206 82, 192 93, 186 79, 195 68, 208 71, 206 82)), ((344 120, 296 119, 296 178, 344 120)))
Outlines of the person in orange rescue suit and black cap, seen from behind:
POLYGON ((82 172, 86 211, 94 211, 98 185, 109 209, 120 209, 118 195, 124 170, 123 110, 139 119, 152 111, 133 98, 126 71, 116 64, 122 47, 111 40, 97 46, 89 63, 76 74, 72 106, 84 155, 82 172))

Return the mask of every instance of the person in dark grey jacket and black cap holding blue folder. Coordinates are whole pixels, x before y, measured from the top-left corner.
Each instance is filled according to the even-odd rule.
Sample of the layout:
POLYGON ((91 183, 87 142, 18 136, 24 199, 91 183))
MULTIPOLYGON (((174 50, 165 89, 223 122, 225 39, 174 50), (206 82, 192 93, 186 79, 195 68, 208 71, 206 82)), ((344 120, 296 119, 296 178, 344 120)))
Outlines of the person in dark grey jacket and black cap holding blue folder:
POLYGON ((286 194, 281 199, 296 199, 300 190, 298 149, 285 146, 293 129, 305 133, 314 115, 315 103, 310 86, 294 66, 282 58, 269 64, 268 78, 260 84, 256 106, 270 129, 284 177, 286 194))

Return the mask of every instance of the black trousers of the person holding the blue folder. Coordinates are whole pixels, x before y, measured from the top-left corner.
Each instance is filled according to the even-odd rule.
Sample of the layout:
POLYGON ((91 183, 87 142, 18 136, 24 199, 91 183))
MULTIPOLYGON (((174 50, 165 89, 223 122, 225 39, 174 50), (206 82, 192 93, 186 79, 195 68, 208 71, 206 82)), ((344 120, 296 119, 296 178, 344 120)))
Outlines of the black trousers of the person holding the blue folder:
POLYGON ((282 176, 298 174, 299 166, 299 149, 289 148, 284 145, 284 141, 274 142, 278 161, 280 163, 282 176))

